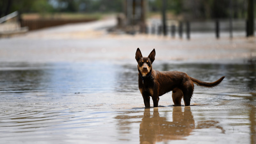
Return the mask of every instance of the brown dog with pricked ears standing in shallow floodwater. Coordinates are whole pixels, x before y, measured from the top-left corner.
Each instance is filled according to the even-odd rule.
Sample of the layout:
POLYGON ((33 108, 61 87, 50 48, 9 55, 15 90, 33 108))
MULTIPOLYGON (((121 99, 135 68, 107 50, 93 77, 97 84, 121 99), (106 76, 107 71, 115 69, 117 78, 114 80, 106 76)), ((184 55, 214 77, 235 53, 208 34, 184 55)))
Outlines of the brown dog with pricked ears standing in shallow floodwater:
POLYGON ((158 107, 159 96, 170 91, 172 91, 172 100, 175 106, 181 105, 182 97, 185 106, 189 106, 194 91, 194 83, 199 86, 212 88, 220 84, 225 77, 222 76, 213 83, 206 83, 190 77, 184 72, 160 72, 152 68, 155 55, 156 51, 153 49, 148 57, 142 57, 139 48, 135 54, 135 59, 138 62, 139 89, 146 108, 150 107, 150 96, 152 97, 154 107, 158 107))

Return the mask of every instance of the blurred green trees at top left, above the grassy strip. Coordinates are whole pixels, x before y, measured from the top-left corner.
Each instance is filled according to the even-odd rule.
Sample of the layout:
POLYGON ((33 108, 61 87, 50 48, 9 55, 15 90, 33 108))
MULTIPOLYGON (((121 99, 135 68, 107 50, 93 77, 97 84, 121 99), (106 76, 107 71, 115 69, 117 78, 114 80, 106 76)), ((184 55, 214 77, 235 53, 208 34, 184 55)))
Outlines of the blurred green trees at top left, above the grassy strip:
POLYGON ((123 0, 0 0, 0 16, 14 11, 40 14, 49 12, 122 12, 123 3, 123 0))

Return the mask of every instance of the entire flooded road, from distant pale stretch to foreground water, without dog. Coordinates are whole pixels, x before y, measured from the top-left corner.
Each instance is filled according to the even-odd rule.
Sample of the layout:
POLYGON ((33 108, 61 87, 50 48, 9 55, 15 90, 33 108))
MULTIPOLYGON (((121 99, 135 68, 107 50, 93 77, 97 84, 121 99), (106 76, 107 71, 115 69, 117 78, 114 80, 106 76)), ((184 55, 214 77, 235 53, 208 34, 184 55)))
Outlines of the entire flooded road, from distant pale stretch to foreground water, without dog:
MULTIPOLYGON (((255 38, 180 40, 106 32, 115 20, 0 39, 2 143, 256 142, 255 38), (156 49, 153 68, 213 82, 191 106, 144 109, 135 52, 156 49)), ((151 100, 151 106, 153 101, 151 100)))

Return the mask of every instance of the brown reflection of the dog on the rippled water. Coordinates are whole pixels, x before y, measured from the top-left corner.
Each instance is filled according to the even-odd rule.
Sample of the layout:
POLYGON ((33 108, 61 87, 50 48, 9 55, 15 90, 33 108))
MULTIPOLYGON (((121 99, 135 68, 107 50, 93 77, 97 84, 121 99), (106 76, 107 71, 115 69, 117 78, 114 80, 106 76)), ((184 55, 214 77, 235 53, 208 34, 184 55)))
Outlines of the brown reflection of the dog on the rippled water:
MULTIPOLYGON (((216 126, 217 121, 198 122, 197 129, 216 127, 225 131, 222 127, 216 126)), ((154 108, 153 116, 150 109, 145 109, 144 117, 140 124, 140 143, 156 143, 167 140, 181 140, 190 135, 195 129, 195 121, 190 111, 190 107, 185 107, 182 112, 181 107, 174 107, 172 121, 166 117, 160 117, 158 108, 154 108)))

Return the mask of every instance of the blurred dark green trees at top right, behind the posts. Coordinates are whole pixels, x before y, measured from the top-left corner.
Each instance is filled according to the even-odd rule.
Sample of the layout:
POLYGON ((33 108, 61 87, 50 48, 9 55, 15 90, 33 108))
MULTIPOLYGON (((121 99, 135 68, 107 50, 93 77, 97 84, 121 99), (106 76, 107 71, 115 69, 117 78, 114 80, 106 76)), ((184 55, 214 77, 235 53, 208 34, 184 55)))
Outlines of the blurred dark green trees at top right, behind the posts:
MULTIPOLYGON (((167 11, 176 15, 186 15, 191 19, 228 18, 231 0, 166 0, 167 11)), ((148 0, 149 10, 160 12, 162 0, 148 0)), ((245 18, 247 0, 232 0, 233 17, 245 18)), ((256 6, 256 3, 255 3, 256 6)), ((256 11, 256 10, 255 10, 256 11)))

